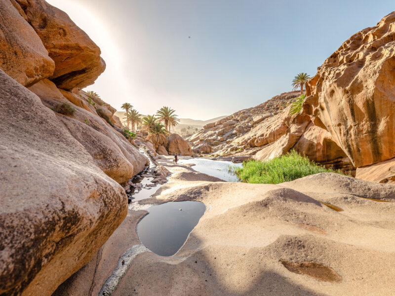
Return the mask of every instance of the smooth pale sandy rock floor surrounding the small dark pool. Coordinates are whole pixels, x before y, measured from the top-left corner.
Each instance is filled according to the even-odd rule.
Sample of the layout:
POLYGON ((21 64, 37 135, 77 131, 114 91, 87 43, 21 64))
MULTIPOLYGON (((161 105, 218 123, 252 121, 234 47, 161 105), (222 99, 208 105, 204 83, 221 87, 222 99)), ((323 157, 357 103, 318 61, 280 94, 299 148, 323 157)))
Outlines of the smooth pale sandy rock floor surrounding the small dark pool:
MULTIPOLYGON (((159 162, 173 174, 139 207, 198 200, 206 212, 176 255, 137 255, 114 296, 394 295, 394 185, 328 173, 280 185, 224 183, 193 167, 172 165, 163 158, 159 162)), ((103 250, 139 244, 135 224, 146 212, 130 212, 129 222, 103 250)), ((122 252, 110 253, 105 257, 117 258, 122 252)), ((100 264, 105 266, 103 258, 102 253, 100 264)), ((111 266, 106 272, 96 267, 101 276, 96 276, 95 287, 117 265, 111 259, 106 262, 111 266)), ((88 278, 86 274, 79 282, 88 278)), ((76 283, 70 281, 57 295, 100 291, 73 293, 82 293, 76 283)))

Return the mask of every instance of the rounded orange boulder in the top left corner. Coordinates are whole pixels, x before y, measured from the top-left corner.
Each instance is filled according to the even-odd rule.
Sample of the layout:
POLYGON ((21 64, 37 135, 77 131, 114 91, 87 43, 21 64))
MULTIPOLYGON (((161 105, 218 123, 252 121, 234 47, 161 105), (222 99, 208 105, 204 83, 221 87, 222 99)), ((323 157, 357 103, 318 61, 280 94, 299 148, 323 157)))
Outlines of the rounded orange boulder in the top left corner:
POLYGON ((31 85, 53 74, 55 63, 39 36, 21 16, 18 3, 0 1, 0 69, 22 85, 31 85))

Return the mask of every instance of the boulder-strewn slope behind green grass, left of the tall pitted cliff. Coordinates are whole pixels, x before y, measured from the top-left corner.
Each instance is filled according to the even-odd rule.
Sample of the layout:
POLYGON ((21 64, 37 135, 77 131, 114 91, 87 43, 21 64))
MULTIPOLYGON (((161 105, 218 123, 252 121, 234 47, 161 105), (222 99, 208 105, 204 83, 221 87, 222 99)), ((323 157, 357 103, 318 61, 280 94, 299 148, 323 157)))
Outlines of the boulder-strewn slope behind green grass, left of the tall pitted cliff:
POLYGON ((215 156, 237 160, 247 156, 265 160, 295 149, 317 163, 354 173, 352 162, 326 130, 315 126, 305 113, 289 115, 290 105, 299 95, 299 91, 283 93, 238 111, 207 124, 188 140, 196 153, 209 153, 210 145, 215 156))

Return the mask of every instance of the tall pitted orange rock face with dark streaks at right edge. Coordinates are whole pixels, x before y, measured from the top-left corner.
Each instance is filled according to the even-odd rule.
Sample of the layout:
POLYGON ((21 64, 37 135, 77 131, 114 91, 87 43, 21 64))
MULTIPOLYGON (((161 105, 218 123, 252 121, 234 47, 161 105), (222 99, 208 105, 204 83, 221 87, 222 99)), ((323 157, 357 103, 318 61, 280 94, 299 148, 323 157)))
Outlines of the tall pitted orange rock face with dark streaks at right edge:
POLYGON ((345 41, 307 85, 304 109, 356 167, 395 156, 395 12, 345 41))

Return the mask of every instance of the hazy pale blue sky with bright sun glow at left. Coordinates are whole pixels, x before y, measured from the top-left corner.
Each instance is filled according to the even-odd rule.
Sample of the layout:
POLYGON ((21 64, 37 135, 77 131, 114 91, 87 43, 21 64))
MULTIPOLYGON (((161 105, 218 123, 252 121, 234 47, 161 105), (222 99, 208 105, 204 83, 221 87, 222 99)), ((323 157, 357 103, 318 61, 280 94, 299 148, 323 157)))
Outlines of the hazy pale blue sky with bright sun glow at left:
POLYGON ((101 48, 106 71, 86 90, 120 111, 163 106, 207 120, 291 91, 393 0, 47 0, 101 48), (362 4, 363 3, 363 4, 362 4))

